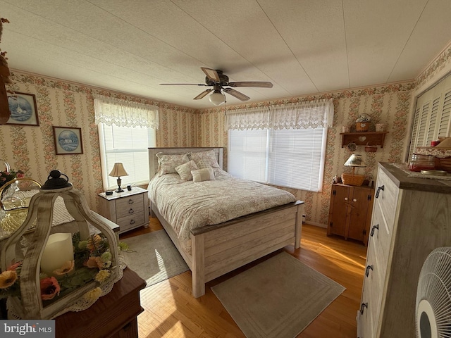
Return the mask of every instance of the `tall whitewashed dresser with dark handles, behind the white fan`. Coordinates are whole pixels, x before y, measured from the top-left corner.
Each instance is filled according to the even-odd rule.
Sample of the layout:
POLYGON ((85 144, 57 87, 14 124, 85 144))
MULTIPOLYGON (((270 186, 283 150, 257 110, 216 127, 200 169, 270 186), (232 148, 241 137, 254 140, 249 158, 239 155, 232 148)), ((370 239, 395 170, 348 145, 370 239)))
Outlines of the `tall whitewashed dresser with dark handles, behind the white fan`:
POLYGON ((357 337, 414 338, 421 267, 433 249, 451 246, 451 180, 379 163, 375 188, 357 337))

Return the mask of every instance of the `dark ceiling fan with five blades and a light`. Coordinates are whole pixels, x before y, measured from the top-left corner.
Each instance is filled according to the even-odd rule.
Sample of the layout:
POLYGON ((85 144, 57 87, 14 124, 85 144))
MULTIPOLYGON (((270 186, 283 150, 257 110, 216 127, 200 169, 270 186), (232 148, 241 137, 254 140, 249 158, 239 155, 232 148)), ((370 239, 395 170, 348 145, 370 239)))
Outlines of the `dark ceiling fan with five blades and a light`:
POLYGON ((212 92, 209 96, 209 99, 212 104, 219 106, 225 101, 225 95, 223 92, 235 96, 237 99, 241 101, 247 101, 250 99, 249 96, 238 92, 233 88, 224 88, 224 87, 258 87, 258 88, 272 88, 273 84, 271 82, 265 81, 240 81, 240 82, 228 82, 228 76, 223 74, 222 70, 214 70, 211 68, 201 67, 202 71, 205 73, 205 84, 197 84, 197 83, 161 83, 162 86, 209 86, 213 87, 212 89, 206 89, 204 92, 200 93, 194 100, 202 99, 206 94, 212 92), (221 90, 223 92, 221 92, 221 90))

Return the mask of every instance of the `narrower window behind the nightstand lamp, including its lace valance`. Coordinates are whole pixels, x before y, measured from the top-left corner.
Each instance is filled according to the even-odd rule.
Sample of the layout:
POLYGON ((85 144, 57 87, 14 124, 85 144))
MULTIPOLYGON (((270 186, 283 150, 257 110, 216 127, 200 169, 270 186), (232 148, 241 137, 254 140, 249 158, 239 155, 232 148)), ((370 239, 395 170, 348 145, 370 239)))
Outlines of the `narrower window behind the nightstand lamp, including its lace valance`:
POLYGON ((117 177, 109 176, 114 163, 123 163, 128 176, 122 186, 149 182, 150 146, 156 146, 158 108, 104 96, 94 96, 99 127, 101 173, 104 189, 117 187, 117 177))

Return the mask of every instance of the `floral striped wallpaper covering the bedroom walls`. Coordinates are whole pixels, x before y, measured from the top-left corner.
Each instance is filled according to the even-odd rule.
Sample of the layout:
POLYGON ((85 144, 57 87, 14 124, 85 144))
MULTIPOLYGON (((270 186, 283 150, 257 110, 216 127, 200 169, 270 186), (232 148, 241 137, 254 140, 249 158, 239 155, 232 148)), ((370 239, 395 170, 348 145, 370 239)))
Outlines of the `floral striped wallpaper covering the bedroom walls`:
MULTIPOLYGON (((323 227, 327 225, 333 176, 350 172, 349 168, 343 166, 352 151, 341 147, 342 125, 353 125, 354 120, 363 113, 371 116, 370 130, 374 130, 375 123, 387 125, 388 134, 383 148, 378 146, 375 153, 367 153, 364 146, 357 146, 357 150, 353 151, 362 154, 367 164, 357 173, 366 175, 369 180, 376 180, 378 162, 404 162, 414 95, 419 88, 433 83, 451 70, 450 56, 451 47, 448 47, 412 82, 240 105, 271 106, 312 99, 333 99, 335 113, 333 127, 328 129, 322 192, 282 188, 305 202, 307 222, 323 227)), ((226 150, 224 154, 227 154, 224 116, 228 107, 194 110, 95 89, 84 84, 30 75, 19 70, 13 71, 13 81, 11 89, 36 95, 39 127, 1 125, 0 158, 10 163, 11 168, 23 170, 27 177, 42 183, 47 180, 51 170, 61 170, 68 175, 74 187, 85 194, 89 207, 94 211, 97 211, 97 194, 102 191, 99 139, 94 124, 94 93, 159 106, 159 130, 156 133, 158 146, 223 146, 226 150), (54 125, 81 127, 83 154, 56 155, 54 125)), ((224 158, 224 163, 227 168, 227 158, 224 158)))

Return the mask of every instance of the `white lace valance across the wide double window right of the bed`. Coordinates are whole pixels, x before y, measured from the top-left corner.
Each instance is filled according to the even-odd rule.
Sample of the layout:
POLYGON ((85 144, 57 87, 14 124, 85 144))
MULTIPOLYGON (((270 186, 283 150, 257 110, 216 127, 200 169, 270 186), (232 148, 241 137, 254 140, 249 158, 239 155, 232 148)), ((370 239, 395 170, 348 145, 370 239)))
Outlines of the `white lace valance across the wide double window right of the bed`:
POLYGON ((228 130, 307 129, 331 127, 332 122, 333 99, 237 109, 226 115, 228 130))

